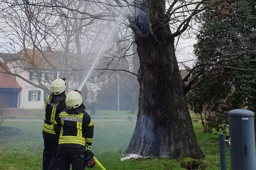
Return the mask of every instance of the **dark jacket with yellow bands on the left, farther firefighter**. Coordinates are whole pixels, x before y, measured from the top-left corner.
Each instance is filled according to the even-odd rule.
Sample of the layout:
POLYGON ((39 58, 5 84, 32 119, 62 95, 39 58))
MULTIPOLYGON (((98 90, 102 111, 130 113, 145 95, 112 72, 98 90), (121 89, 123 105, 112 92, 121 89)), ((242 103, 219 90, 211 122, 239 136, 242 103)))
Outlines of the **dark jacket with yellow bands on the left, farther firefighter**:
POLYGON ((65 99, 65 93, 51 94, 45 98, 45 122, 43 127, 45 132, 56 134, 53 130, 53 124, 56 116, 66 108, 65 99))

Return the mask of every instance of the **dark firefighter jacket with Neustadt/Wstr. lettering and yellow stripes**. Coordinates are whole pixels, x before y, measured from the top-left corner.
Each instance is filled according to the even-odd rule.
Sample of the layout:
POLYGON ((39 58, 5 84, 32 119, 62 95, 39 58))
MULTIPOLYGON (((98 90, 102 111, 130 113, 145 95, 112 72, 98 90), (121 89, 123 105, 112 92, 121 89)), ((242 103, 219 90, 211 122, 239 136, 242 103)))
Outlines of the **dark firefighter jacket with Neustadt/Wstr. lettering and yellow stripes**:
POLYGON ((91 146, 93 130, 93 122, 83 104, 75 109, 65 108, 54 122, 54 131, 59 134, 59 145, 91 146))

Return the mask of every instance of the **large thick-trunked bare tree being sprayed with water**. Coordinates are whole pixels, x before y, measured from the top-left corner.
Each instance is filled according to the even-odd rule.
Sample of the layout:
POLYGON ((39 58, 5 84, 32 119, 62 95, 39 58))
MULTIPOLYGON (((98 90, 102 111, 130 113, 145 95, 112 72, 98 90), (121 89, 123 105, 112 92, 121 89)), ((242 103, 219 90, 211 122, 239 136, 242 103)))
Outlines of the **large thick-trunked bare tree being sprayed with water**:
MULTIPOLYGON (((169 156, 173 158, 201 159, 205 156, 195 138, 186 103, 186 92, 190 89, 191 84, 200 81, 194 80, 188 85, 184 83, 188 81, 197 66, 192 68, 188 76, 182 79, 176 59, 175 46, 177 40, 188 28, 193 29, 190 25, 191 19, 217 1, 102 0, 54 1, 52 3, 50 0, 24 0, 22 2, 2 2, 6 4, 3 10, 22 5, 47 10, 47 15, 66 18, 68 25, 72 27, 73 24, 73 31, 79 28, 81 23, 83 25, 83 23, 89 23, 93 20, 95 25, 91 24, 91 27, 94 29, 102 29, 103 32, 105 31, 104 33, 108 31, 109 34, 115 32, 116 34, 113 34, 113 38, 110 40, 106 38, 107 34, 98 35, 88 31, 85 34, 91 39, 86 43, 96 43, 86 45, 92 47, 92 52, 97 54, 100 54, 99 49, 101 48, 99 46, 106 46, 104 53, 101 54, 102 59, 95 70, 122 70, 137 76, 140 85, 139 108, 136 127, 127 152, 142 156, 169 156), (80 6, 72 6, 72 3, 80 6), (51 10, 56 13, 51 14, 51 10), (143 25, 145 22, 137 20, 141 15, 144 15, 144 21, 147 19, 146 27, 148 30, 146 31, 144 29, 146 27, 143 25), (73 22, 73 19, 78 21, 73 22), (144 27, 139 26, 139 24, 144 27), (109 30, 106 29, 108 26, 109 30), (130 34, 120 36, 119 33, 123 33, 123 31, 118 33, 118 29, 126 29, 127 33, 130 30, 130 34), (114 39, 119 39, 122 45, 115 44, 114 39), (107 42, 107 44, 103 42, 107 42), (134 43, 137 49, 134 47, 134 43), (112 50, 114 48, 115 50, 112 50), (135 64, 135 51, 139 58, 138 73, 136 72, 138 65, 135 64), (121 61, 121 58, 127 59, 121 61)), ((31 17, 35 20, 35 16, 31 17)), ((40 23, 42 22, 37 20, 37 24, 40 23)), ((49 29, 51 25, 52 23, 43 24, 43 27, 49 29)), ((47 33, 47 30, 44 30, 44 33, 47 33)), ((77 38, 78 35, 83 35, 82 33, 83 29, 74 31, 74 37, 77 38)), ((78 45, 78 47, 80 46, 78 45)), ((76 49, 76 53, 81 54, 82 49, 76 49)), ((76 57, 79 58, 80 56, 76 57)), ((82 57, 82 59, 84 58, 82 57)), ((83 65, 86 61, 79 63, 83 65)), ((205 63, 201 64, 204 65, 205 63)), ((72 69, 86 70, 88 68, 72 69)))

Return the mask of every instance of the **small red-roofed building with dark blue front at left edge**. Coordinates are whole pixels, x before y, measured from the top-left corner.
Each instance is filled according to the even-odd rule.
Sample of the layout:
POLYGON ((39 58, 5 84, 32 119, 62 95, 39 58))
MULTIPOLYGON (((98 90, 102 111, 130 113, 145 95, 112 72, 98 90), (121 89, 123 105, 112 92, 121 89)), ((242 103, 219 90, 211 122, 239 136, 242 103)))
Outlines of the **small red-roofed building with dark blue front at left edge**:
MULTIPOLYGON (((0 57, 3 54, 0 53, 0 57)), ((20 107, 20 94, 22 87, 16 80, 16 77, 6 72, 10 72, 10 68, 0 59, 2 66, 0 67, 0 104, 6 108, 20 107)))

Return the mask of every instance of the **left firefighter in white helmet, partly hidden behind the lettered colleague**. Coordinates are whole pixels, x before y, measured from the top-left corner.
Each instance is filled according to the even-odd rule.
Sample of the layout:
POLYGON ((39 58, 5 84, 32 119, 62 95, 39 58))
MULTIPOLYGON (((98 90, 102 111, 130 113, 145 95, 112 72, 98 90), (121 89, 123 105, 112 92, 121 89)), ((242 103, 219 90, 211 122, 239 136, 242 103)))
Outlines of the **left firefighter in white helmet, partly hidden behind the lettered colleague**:
POLYGON ((54 158, 57 154, 59 135, 54 132, 53 124, 56 116, 66 107, 65 90, 67 83, 65 80, 65 78, 54 80, 50 86, 51 94, 45 99, 45 121, 42 132, 44 138, 42 170, 54 169, 54 158))

